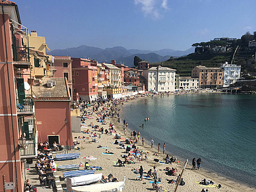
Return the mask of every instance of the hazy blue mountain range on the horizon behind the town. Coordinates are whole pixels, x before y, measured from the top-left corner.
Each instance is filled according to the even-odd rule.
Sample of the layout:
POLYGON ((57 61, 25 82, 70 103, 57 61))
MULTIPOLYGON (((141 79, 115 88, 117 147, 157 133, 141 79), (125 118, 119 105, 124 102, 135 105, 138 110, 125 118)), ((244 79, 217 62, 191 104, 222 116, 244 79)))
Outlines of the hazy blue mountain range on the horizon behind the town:
POLYGON ((49 52, 49 55, 69 55, 71 57, 91 58, 105 63, 111 63, 111 60, 115 60, 117 63, 123 63, 131 67, 133 66, 133 58, 135 55, 150 63, 156 63, 166 61, 170 59, 170 57, 181 57, 193 52, 194 48, 189 48, 185 51, 177 51, 174 49, 150 51, 146 49, 125 49, 121 46, 101 49, 82 45, 77 48, 55 49, 49 52))

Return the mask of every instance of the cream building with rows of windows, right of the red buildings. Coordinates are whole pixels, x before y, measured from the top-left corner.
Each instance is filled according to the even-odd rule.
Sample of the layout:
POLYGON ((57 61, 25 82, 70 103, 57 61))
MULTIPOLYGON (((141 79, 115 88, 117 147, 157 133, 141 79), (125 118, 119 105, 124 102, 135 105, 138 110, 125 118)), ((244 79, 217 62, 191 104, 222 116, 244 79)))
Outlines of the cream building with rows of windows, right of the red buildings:
POLYGON ((121 86, 121 69, 110 63, 102 63, 102 65, 108 69, 110 86, 115 88, 121 86))

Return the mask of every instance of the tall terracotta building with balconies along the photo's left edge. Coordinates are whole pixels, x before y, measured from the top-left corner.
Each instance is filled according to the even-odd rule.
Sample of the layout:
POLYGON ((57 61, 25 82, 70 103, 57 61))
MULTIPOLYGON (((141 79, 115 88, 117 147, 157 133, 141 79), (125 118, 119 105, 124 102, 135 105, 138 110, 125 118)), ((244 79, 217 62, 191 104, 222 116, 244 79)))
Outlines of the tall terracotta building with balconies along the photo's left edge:
POLYGON ((28 29, 21 24, 16 3, 0 5, 0 175, 15 186, 7 191, 23 191, 26 162, 37 156, 29 45, 22 44, 28 29))

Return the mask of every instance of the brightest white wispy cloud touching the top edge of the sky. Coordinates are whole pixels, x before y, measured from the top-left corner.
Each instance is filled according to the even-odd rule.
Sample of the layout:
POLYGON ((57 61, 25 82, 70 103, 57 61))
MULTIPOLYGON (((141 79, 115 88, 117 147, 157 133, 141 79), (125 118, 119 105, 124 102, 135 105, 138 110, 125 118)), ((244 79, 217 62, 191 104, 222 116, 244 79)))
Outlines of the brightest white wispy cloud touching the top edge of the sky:
POLYGON ((160 0, 134 0, 135 5, 141 5, 141 11, 144 16, 152 16, 153 18, 160 18, 159 9, 169 9, 168 8, 168 0, 161 0, 162 4, 160 5, 160 0))

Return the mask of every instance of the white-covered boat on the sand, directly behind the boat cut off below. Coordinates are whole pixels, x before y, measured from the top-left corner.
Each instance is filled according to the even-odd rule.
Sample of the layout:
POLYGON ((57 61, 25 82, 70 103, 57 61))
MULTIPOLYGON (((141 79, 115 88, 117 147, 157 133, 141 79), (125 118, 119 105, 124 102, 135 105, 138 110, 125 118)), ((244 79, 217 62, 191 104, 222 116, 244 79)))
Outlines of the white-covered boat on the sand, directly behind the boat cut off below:
MULTIPOLYGON (((102 174, 89 174, 86 176, 71 177, 72 186, 77 185, 89 185, 90 183, 96 183, 102 179, 102 174)), ((67 180, 65 180, 67 182, 67 180)))

